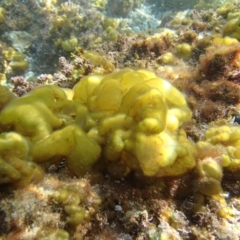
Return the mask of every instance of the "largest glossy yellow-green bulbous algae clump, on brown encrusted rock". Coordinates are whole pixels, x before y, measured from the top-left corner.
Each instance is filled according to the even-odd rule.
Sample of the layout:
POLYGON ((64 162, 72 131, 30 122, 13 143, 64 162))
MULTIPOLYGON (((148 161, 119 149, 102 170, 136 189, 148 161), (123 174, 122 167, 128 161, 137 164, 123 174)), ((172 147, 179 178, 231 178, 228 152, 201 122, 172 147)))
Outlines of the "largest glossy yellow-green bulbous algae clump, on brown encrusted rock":
MULTIPOLYGON (((147 70, 123 69, 86 76, 72 92, 57 86, 35 88, 5 104, 0 126, 6 145, 29 145, 29 150, 19 147, 25 154, 18 154, 19 161, 52 163, 64 157, 70 171, 82 176, 101 160, 112 169, 121 166, 119 176, 137 171, 162 177, 195 166, 195 146, 180 130, 190 118, 184 96, 168 81, 147 70), (4 134, 20 139, 5 140, 4 134)), ((2 155, 14 155, 4 151, 2 155)), ((12 176, 11 171, 21 170, 11 156, 3 161, 1 176, 8 181, 2 182, 25 177, 12 176)))

